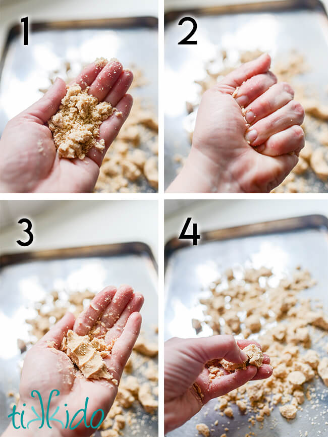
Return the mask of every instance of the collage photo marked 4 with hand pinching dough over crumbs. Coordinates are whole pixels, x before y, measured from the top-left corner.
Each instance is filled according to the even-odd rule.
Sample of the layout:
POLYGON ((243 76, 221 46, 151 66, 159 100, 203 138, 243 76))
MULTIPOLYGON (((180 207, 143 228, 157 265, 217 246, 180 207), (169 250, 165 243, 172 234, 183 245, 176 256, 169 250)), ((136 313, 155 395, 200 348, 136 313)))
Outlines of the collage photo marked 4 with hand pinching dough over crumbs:
POLYGON ((327 433, 327 213, 327 200, 166 200, 168 436, 327 433))

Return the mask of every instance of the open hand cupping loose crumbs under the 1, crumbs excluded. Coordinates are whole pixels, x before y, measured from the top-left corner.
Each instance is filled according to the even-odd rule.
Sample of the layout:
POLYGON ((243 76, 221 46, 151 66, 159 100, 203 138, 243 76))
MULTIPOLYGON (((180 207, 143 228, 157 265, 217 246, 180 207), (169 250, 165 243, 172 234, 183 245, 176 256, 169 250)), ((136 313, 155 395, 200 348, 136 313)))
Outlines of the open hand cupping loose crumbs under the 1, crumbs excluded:
POLYGON ((59 158, 46 125, 66 94, 65 82, 57 78, 40 100, 8 122, 0 141, 0 192, 92 192, 102 158, 130 113, 133 100, 126 92, 132 80, 132 72, 123 70, 118 61, 110 61, 103 68, 90 64, 74 80, 83 89, 90 86, 90 94, 122 112, 122 117, 113 114, 100 125, 104 151, 93 147, 80 160, 59 158), (42 144, 42 150, 38 144, 42 144))

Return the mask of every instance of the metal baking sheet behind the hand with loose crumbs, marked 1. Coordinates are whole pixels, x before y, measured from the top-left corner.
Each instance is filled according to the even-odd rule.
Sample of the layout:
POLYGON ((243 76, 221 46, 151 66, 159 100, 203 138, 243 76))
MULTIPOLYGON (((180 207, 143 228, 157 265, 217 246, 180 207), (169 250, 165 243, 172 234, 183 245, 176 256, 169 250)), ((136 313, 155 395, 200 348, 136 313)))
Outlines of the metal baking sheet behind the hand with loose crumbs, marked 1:
MULTIPOLYGON (((31 23, 28 45, 23 45, 22 26, 8 35, 0 64, 0 135, 7 122, 38 100, 39 88, 49 87, 49 74, 72 77, 96 58, 118 58, 124 67, 142 70, 145 85, 131 93, 158 111, 158 20, 154 17, 31 23)), ((146 145, 140 148, 149 154, 146 145)), ((155 192, 140 182, 142 192, 155 192)))

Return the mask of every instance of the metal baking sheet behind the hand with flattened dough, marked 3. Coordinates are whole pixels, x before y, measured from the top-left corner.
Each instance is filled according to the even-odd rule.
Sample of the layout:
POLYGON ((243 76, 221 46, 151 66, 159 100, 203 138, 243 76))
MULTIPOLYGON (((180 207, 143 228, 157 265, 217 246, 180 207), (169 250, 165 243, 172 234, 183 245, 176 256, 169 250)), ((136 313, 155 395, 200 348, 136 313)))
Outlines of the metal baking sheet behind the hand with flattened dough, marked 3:
MULTIPOLYGON (((58 290, 69 294, 85 289, 98 292, 107 285, 130 284, 145 297, 141 330, 147 339, 157 341, 157 266, 150 248, 143 243, 3 255, 0 267, 0 326, 6 333, 0 351, 0 432, 9 424, 13 399, 7 393, 18 392, 20 365, 25 356, 18 351, 17 339, 29 339, 30 326, 25 319, 35 316, 34 303, 47 293, 58 290)), ((138 370, 134 374, 143 380, 138 370)), ((157 420, 135 404, 134 411, 144 419, 139 420, 135 435, 157 436, 157 420)), ((125 435, 131 432, 127 424, 125 435)))

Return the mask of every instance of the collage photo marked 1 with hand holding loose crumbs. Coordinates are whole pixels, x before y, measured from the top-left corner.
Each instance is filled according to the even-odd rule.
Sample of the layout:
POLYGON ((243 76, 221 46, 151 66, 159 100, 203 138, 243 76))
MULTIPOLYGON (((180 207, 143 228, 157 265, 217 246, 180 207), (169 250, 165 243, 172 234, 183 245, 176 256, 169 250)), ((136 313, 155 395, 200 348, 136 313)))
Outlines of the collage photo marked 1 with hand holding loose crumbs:
POLYGON ((157 2, 12 3, 1 5, 0 192, 156 193, 157 2))

